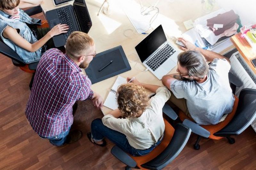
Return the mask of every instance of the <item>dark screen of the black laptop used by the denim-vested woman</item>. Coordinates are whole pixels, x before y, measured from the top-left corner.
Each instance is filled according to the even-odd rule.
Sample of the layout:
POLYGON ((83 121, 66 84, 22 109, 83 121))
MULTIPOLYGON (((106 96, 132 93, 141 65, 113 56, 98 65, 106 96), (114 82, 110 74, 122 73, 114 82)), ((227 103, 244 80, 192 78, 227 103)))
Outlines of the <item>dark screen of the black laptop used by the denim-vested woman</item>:
POLYGON ((75 0, 73 4, 76 18, 82 32, 88 33, 92 27, 92 20, 84 0, 75 0))

